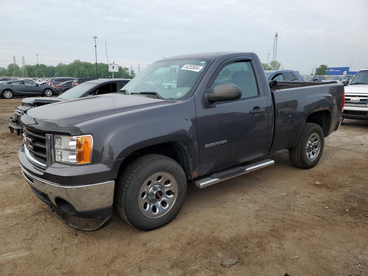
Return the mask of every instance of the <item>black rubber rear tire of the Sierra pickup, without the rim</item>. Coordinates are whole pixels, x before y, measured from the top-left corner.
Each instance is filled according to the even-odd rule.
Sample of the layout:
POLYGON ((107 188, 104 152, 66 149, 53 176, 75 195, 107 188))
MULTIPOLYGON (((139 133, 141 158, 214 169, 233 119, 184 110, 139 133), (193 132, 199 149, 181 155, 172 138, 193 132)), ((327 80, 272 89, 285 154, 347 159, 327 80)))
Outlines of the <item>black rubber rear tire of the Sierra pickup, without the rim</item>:
MULTIPOLYGON (((322 128, 318 124, 305 123, 298 145, 294 146, 294 148, 289 149, 290 160, 296 167, 299 167, 301 169, 311 169, 318 163, 319 159, 321 159, 324 146, 325 146, 325 136, 323 134, 322 128), (309 160, 307 158, 308 154, 307 144, 308 139, 314 133, 319 135, 319 137, 317 136, 320 139, 320 144, 318 146, 319 151, 313 160, 309 160)), ((315 148, 313 148, 313 150, 315 150, 315 148)))

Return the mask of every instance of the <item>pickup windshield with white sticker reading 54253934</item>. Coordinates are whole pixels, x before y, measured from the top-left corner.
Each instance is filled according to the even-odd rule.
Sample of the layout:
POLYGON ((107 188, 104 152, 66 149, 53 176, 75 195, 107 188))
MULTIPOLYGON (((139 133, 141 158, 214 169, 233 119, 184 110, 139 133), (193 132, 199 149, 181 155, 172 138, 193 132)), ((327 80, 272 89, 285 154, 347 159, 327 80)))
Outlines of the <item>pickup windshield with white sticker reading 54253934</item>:
MULTIPOLYGON (((158 61, 135 76, 120 92, 141 93, 163 99, 187 98, 204 74, 208 59, 180 59, 158 61)), ((73 88, 74 89, 74 88, 73 88)))

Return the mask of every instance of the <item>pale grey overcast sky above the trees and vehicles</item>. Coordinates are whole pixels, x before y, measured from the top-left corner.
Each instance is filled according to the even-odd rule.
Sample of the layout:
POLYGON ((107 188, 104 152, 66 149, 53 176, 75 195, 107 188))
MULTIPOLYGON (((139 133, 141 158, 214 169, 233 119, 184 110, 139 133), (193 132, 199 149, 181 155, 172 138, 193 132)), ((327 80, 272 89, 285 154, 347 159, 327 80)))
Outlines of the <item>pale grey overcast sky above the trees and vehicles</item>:
POLYGON ((244 51, 309 74, 314 66, 368 67, 368 0, 0 0, 0 66, 97 60, 137 70, 178 54, 244 51), (304 4, 300 4, 304 3, 304 4))

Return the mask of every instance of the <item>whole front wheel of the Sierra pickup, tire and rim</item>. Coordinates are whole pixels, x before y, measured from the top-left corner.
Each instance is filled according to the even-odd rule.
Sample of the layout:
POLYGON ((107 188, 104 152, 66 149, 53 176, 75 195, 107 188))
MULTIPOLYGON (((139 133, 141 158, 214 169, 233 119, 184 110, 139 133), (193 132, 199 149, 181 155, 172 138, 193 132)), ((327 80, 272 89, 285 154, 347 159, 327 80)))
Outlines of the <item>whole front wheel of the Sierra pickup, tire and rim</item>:
POLYGON ((127 223, 149 231, 174 219, 186 192, 187 179, 176 161, 158 154, 144 155, 119 177, 116 209, 127 223))

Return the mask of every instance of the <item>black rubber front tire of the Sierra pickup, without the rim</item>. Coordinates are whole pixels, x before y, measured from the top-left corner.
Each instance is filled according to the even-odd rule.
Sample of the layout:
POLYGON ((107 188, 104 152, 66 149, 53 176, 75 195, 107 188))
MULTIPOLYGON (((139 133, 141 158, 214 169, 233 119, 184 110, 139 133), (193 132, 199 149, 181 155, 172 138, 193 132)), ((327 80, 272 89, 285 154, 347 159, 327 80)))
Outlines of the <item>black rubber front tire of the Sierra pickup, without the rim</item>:
POLYGON ((148 154, 135 159, 121 173, 115 190, 115 206, 128 224, 139 230, 150 231, 166 225, 176 217, 183 206, 186 193, 187 179, 183 168, 169 157, 148 154), (145 181, 158 172, 169 173, 174 177, 177 183, 177 195, 167 213, 150 218, 141 212, 138 198, 145 181))

